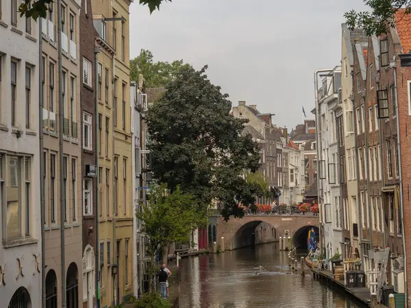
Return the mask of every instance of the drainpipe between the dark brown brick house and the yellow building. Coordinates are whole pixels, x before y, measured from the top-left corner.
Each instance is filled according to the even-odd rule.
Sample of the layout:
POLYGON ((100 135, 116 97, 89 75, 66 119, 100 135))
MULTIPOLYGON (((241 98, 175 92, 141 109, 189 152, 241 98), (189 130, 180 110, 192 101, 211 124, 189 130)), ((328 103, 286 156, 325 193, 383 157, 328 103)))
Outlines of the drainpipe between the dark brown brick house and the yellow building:
MULTIPOLYGON (((98 60, 97 55, 99 54, 99 47, 95 46, 95 164, 96 164, 96 257, 95 257, 95 268, 97 269, 96 274, 96 300, 97 308, 100 307, 99 289, 100 289, 100 242, 99 242, 99 138, 97 137, 97 131, 99 131, 99 94, 97 90, 97 84, 99 83, 99 71, 98 71, 98 60)), ((103 73, 103 72, 101 72, 103 73)))

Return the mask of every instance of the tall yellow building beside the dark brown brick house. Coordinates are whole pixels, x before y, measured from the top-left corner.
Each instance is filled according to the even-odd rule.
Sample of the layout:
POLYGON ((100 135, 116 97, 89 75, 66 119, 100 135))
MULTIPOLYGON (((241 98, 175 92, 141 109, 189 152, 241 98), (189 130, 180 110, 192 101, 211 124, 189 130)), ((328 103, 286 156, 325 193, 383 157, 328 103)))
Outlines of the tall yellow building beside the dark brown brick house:
POLYGON ((132 133, 129 103, 128 0, 92 0, 100 38, 99 71, 99 242, 100 307, 133 294, 132 133), (118 266, 118 267, 117 267, 118 266), (115 274, 118 272, 117 274, 115 274))

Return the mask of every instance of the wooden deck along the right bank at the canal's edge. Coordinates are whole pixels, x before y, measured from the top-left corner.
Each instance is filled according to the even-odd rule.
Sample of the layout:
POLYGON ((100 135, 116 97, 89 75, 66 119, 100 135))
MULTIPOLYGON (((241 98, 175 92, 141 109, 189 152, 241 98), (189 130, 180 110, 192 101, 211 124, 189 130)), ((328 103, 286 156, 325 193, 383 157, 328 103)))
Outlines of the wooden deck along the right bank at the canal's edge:
MULTIPOLYGON (((337 281, 334 279, 333 274, 330 270, 315 270, 311 269, 314 279, 319 279, 324 281, 327 285, 332 284, 337 287, 342 292, 351 294, 364 305, 370 306, 371 304, 371 294, 370 290, 366 287, 345 287, 344 281, 337 281)), ((378 307, 386 308, 384 305, 379 305, 378 307)))

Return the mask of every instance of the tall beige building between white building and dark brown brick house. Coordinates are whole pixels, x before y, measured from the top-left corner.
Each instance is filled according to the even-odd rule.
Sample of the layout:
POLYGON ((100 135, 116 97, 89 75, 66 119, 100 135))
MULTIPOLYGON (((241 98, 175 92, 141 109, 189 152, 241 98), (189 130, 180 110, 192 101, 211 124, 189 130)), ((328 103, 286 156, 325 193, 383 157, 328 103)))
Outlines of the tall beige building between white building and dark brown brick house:
POLYGON ((45 157, 45 250, 47 307, 82 305, 82 149, 86 138, 79 127, 80 0, 50 3, 42 18, 42 82, 44 157, 45 157), (58 33, 58 10, 61 12, 61 36, 58 33), (58 40, 61 37, 62 73, 59 73, 58 40), (59 92, 59 89, 62 92, 59 92), (60 110, 62 99, 64 106, 60 110), (60 140, 60 113, 63 115, 63 138, 60 140), (63 159, 60 159, 60 141, 63 159), (60 181, 60 172, 63 172, 60 181), (63 189, 61 189, 63 188, 63 189), (65 197, 65 203, 61 198, 65 197), (62 217, 63 210, 63 217, 62 217), (62 236, 63 235, 63 238, 62 236), (63 281, 66 292, 62 294, 63 281), (63 303, 65 302, 65 303, 63 303))

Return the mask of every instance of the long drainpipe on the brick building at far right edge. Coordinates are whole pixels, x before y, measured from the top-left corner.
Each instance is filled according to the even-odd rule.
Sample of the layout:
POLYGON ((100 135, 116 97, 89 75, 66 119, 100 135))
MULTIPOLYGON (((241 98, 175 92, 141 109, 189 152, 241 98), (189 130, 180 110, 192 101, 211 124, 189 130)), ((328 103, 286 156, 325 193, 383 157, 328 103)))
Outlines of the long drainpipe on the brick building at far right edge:
MULTIPOLYGON (((397 58, 395 57, 396 61, 397 58)), ((397 62, 394 62, 393 68, 394 68, 394 87, 395 87, 395 93, 398 93, 397 91, 397 62)), ((391 66, 391 65, 390 65, 391 66)), ((401 168, 401 146, 399 142, 399 110, 398 110, 398 95, 395 95, 395 112, 397 114, 397 151, 398 151, 398 164, 399 164, 399 194, 400 194, 400 200, 399 200, 399 205, 400 205, 400 211, 401 211, 401 229, 403 231, 402 238, 403 238, 403 257, 404 257, 404 272, 407 273, 407 255, 406 255, 406 235, 404 231, 404 215, 403 215, 403 185, 402 185, 402 168, 401 168)), ((398 223, 398 222, 397 222, 398 223)), ((408 307, 408 281, 407 281, 407 275, 404 274, 404 293, 405 293, 405 298, 406 298, 406 307, 408 307)))

